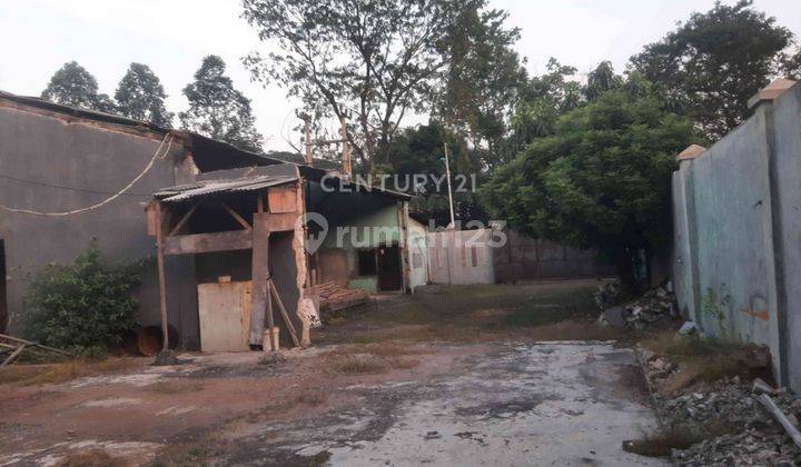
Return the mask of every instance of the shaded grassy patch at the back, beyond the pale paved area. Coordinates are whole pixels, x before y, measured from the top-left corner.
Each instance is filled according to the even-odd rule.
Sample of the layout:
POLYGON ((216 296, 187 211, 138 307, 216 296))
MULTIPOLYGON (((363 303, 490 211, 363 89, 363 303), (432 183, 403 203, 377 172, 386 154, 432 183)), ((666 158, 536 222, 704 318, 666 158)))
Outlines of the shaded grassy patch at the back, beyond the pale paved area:
POLYGON ((544 326, 562 322, 581 326, 565 327, 564 336, 544 337, 616 338, 622 334, 620 330, 594 324, 595 287, 595 281, 437 286, 339 311, 335 320, 327 319, 329 326, 317 336, 317 341, 365 345, 386 340, 486 341, 510 335, 525 337, 537 334, 544 326))

